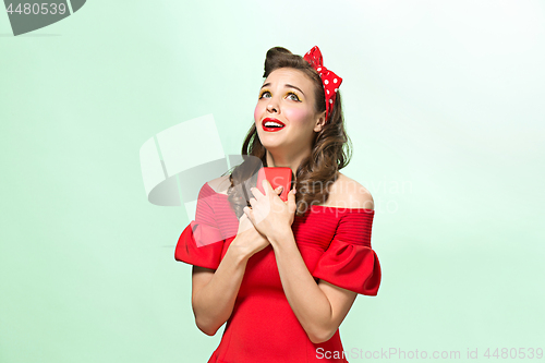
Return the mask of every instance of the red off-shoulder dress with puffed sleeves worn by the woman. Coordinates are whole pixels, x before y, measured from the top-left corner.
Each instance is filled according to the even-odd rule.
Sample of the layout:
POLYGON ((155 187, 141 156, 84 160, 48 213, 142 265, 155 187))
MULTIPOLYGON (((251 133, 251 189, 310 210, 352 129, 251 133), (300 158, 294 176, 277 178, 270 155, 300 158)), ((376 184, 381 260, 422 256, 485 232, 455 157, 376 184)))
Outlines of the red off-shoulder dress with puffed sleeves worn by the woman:
MULTIPOLYGON (((295 243, 316 282, 323 279, 361 294, 377 294, 380 265, 371 249, 374 214, 366 208, 313 205, 305 215, 295 216, 295 243)), ((238 227, 228 196, 205 183, 195 220, 180 235, 174 258, 217 269, 238 227)), ((275 252, 268 245, 247 261, 233 312, 208 363, 348 362, 349 351, 334 359, 335 351, 342 356, 339 329, 322 343, 308 339, 288 303, 275 252)))

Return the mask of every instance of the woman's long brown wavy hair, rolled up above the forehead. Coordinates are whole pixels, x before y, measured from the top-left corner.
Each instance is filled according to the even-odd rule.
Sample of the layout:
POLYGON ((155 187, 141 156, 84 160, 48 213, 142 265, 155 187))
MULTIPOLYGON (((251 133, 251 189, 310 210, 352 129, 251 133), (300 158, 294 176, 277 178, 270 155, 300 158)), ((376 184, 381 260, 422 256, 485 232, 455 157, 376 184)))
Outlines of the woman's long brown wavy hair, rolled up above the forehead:
MULTIPOLYGON (((293 55, 282 47, 270 48, 265 58, 263 77, 266 78, 280 68, 302 71, 315 85, 316 112, 326 110, 324 86, 319 74, 303 57, 293 55)), ((296 216, 305 214, 311 205, 327 202, 330 185, 337 180, 338 171, 344 168, 352 157, 352 143, 344 130, 340 92, 337 92, 334 109, 329 120, 326 121, 322 131, 315 132, 310 157, 302 160, 295 176, 292 176, 291 187, 295 186, 298 191, 296 216)), ((257 171, 262 167, 267 167, 266 152, 253 122, 242 145, 241 155, 244 161, 234 167, 229 176, 231 185, 227 191, 228 199, 238 218, 244 214, 244 206, 251 207, 249 201, 253 195, 250 195, 250 187, 256 186, 257 171)))

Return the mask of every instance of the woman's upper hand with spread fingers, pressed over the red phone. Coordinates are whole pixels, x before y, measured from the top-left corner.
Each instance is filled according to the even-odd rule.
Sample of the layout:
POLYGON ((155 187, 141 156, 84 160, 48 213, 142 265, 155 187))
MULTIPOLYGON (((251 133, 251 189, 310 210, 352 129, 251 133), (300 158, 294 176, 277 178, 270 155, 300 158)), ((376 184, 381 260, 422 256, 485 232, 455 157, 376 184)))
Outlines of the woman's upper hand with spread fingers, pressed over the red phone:
POLYGON ((257 187, 252 187, 254 197, 250 198, 252 208, 244 207, 244 214, 255 229, 267 237, 268 240, 279 239, 286 230, 291 230, 291 225, 295 217, 295 190, 288 193, 288 201, 280 199, 270 186, 268 180, 263 181, 265 195, 257 187))

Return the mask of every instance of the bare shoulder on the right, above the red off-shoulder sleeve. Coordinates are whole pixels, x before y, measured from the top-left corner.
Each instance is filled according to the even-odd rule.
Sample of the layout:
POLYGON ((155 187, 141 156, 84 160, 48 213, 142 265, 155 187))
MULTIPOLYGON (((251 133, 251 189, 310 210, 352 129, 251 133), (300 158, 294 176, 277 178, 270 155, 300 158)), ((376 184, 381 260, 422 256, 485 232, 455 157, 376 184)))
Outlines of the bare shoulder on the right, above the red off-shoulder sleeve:
POLYGON ((370 191, 341 172, 339 172, 335 183, 331 184, 327 202, 328 206, 341 208, 375 208, 370 191))

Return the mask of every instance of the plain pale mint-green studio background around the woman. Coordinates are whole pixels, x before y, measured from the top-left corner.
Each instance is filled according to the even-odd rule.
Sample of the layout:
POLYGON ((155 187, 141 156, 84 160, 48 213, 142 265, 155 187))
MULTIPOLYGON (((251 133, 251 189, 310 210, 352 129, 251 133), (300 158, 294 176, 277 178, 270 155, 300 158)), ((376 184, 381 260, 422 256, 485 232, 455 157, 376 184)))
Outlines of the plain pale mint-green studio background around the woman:
POLYGON ((344 349, 545 348, 543 1, 94 0, 17 37, 0 14, 0 362, 208 360, 190 218, 147 202, 140 147, 213 113, 240 153, 267 49, 315 45, 383 268, 344 349))

